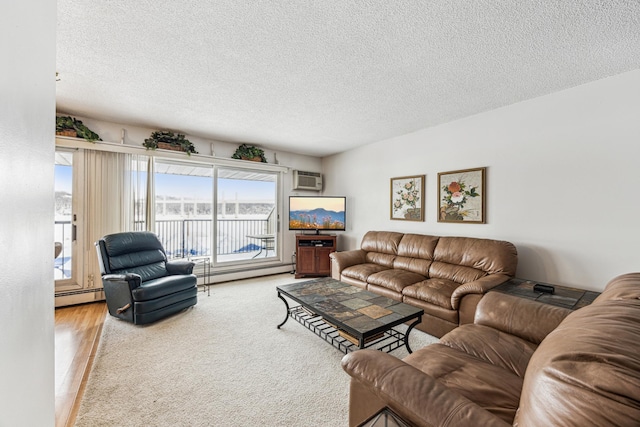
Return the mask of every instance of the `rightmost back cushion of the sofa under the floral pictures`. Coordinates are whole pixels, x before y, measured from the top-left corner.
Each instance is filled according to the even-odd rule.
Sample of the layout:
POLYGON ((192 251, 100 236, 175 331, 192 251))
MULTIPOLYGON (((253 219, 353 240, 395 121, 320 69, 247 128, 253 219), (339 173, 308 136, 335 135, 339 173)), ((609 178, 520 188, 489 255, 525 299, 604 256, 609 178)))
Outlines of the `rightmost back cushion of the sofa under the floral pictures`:
POLYGON ((506 241, 473 237, 440 237, 434 250, 429 277, 467 283, 488 274, 514 276, 516 247, 506 241))

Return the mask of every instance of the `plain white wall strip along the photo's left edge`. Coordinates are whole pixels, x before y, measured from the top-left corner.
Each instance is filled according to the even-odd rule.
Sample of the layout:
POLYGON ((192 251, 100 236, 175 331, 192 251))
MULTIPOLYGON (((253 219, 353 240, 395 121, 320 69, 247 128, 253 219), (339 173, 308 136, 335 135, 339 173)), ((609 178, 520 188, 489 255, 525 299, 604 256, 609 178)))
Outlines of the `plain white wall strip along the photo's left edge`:
MULTIPOLYGON (((8 5, 7 5, 8 6, 8 5)), ((53 426, 56 3, 0 14, 0 426, 53 426)))

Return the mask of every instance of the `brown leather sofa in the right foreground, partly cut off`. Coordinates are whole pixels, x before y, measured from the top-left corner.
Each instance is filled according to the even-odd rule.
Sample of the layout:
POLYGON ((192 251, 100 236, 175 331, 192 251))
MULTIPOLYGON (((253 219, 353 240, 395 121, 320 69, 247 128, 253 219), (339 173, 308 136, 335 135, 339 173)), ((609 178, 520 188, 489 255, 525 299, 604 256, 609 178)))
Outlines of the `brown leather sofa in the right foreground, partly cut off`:
POLYGON ((385 406, 416 426, 638 426, 640 273, 575 312, 489 292, 440 343, 342 366, 351 426, 385 406))

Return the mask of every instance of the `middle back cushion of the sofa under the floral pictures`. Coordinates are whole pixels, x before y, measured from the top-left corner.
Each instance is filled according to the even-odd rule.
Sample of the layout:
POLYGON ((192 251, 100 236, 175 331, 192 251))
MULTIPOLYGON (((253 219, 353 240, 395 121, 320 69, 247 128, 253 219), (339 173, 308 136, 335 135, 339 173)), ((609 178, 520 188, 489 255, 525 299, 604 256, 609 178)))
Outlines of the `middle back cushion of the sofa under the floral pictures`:
POLYGON ((429 277, 429 267, 433 262, 438 239, 438 236, 405 234, 398 244, 398 256, 393 261, 393 268, 429 277))

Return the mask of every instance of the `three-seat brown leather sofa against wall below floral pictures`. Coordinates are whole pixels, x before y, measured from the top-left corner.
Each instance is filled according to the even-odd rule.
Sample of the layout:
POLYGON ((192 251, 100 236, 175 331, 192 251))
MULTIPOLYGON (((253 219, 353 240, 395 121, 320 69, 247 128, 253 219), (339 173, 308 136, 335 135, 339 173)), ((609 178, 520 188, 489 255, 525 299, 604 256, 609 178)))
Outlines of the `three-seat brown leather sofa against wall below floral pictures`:
POLYGON ((390 231, 369 231, 360 249, 330 257, 334 279, 423 309, 417 328, 436 337, 472 323, 482 295, 518 264, 509 242, 390 231))

